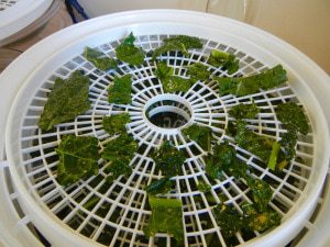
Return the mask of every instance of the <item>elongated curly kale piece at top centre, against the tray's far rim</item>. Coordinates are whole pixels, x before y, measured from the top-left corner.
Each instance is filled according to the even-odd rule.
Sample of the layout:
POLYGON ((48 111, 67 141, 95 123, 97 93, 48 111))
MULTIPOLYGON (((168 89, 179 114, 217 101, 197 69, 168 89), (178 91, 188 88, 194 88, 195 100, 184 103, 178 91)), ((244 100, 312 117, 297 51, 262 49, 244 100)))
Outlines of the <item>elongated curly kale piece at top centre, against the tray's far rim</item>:
POLYGON ((152 56, 153 59, 172 50, 178 50, 182 52, 184 56, 188 56, 188 49, 202 47, 202 43, 198 37, 187 35, 177 35, 175 37, 165 38, 163 42, 164 44, 154 50, 152 56))

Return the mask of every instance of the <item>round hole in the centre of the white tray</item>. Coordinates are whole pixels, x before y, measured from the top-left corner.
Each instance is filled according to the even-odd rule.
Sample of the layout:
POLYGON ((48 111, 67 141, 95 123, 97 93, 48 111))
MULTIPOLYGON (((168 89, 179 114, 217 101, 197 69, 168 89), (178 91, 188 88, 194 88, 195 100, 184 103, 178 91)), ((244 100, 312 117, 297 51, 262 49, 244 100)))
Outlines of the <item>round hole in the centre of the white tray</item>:
POLYGON ((187 124, 191 119, 191 111, 186 102, 162 98, 152 101, 146 108, 145 115, 158 127, 177 128, 187 124))

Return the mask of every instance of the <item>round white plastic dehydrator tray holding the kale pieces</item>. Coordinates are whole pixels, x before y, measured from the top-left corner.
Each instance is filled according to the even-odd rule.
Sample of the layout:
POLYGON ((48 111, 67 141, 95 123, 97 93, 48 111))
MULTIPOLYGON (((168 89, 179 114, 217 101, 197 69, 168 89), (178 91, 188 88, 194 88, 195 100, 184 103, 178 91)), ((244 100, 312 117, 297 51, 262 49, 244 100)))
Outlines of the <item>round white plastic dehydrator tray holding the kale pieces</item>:
MULTIPOLYGON (((217 69, 212 74, 223 75, 217 69)), ((184 165, 184 175, 175 178, 177 191, 170 194, 182 199, 185 204, 185 245, 206 246, 206 236, 216 233, 219 243, 226 246, 217 225, 205 227, 201 215, 207 214, 215 222, 210 206, 202 193, 189 186, 201 180, 208 182, 199 161, 202 150, 197 154, 191 151, 195 144, 186 142, 176 126, 163 128, 150 123, 145 111, 154 103, 158 103, 160 108, 156 109, 162 111, 162 103, 170 101, 169 109, 180 114, 186 124, 197 122, 209 125, 220 141, 227 138, 224 128, 228 124, 228 110, 239 102, 251 102, 254 99, 265 113, 260 114, 258 120, 251 122, 250 126, 260 134, 278 137, 282 128, 274 115, 274 105, 278 101, 296 100, 304 105, 311 124, 311 132, 298 142, 298 154, 305 159, 305 164, 294 162, 285 170, 285 176, 278 178, 260 167, 255 157, 240 150, 241 158, 248 161, 256 177, 267 178, 276 184, 273 187, 271 206, 283 215, 283 220, 275 229, 262 235, 256 233, 250 240, 238 234, 238 242, 242 246, 285 246, 306 225, 327 175, 329 132, 316 98, 316 93, 318 97, 327 96, 324 90, 319 90, 324 83, 323 78, 322 71, 314 63, 270 34, 232 20, 197 12, 158 10, 118 13, 54 34, 28 50, 1 75, 1 82, 6 83, 6 90, 1 91, 7 92, 0 110, 3 116, 1 127, 6 125, 7 162, 3 166, 9 167, 15 191, 7 198, 15 201, 25 215, 18 221, 15 227, 35 226, 53 246, 98 246, 102 233, 110 228, 114 231, 113 238, 108 243, 110 246, 153 246, 157 238, 166 239, 167 246, 170 246, 170 238, 166 234, 157 234, 155 238, 147 240, 141 238, 142 226, 150 215, 144 207, 146 194, 143 189, 152 178, 160 178, 160 175, 154 173, 154 165, 147 153, 136 154, 131 162, 132 176, 117 180, 106 192, 102 190, 103 181, 96 177, 66 189, 56 181, 57 160, 54 148, 58 145, 61 135, 94 135, 103 145, 109 136, 101 128, 102 116, 128 112, 132 120, 128 132, 140 145, 150 149, 158 146, 162 139, 172 139, 190 154, 184 165), (146 59, 142 67, 120 65, 119 74, 130 72, 133 76, 133 102, 131 105, 112 105, 107 103, 107 87, 113 76, 96 69, 81 53, 88 45, 113 56, 119 41, 130 32, 138 36, 135 44, 146 50, 160 46, 168 35, 200 37, 205 43, 204 48, 191 50, 189 57, 180 57, 177 53, 163 56, 177 68, 176 74, 182 76, 185 76, 182 65, 201 60, 212 48, 219 48, 235 54, 240 59, 239 74, 242 75, 260 72, 279 63, 288 71, 289 83, 244 98, 219 97, 215 83, 200 82, 187 93, 166 94, 153 75, 154 64, 146 59), (86 71, 91 79, 92 108, 75 121, 58 125, 56 132, 42 133, 36 123, 54 78, 66 78, 77 69, 86 71), (310 88, 311 81, 314 89, 310 88), (98 197, 99 203, 94 209, 86 210, 82 205, 91 197, 98 197), (98 209, 108 205, 110 210, 107 216, 98 216, 98 209), (114 210, 121 213, 113 221, 111 213, 114 210), (70 224, 72 222, 76 224, 70 224)), ((168 106, 166 110, 168 111, 168 106)), ((3 150, 3 139, 0 144, 3 150)), ((246 195, 249 190, 231 177, 211 186, 216 200, 218 192, 223 192, 228 202, 238 207, 240 201, 250 200, 246 195)), ((8 222, 15 225, 13 220, 8 218, 8 222)), ((23 239, 24 237, 22 243, 23 239)))

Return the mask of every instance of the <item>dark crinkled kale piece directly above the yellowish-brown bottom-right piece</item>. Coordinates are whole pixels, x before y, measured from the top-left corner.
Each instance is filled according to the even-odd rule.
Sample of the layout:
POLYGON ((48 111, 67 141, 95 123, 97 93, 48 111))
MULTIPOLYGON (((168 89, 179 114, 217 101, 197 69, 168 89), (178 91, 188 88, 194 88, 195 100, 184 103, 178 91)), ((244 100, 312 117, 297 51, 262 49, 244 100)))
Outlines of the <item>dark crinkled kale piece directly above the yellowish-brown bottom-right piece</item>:
POLYGON ((250 177, 246 178, 246 182, 251 189, 255 207, 258 212, 265 212, 273 197, 271 186, 261 179, 252 179, 250 177))

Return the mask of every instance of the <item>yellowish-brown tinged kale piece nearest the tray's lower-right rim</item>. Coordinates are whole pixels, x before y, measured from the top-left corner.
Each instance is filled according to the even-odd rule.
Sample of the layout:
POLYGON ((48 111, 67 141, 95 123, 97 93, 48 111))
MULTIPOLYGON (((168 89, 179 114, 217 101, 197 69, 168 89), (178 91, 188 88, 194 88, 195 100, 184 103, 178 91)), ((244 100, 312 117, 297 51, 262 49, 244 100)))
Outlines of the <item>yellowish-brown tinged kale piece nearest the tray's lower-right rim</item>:
POLYGON ((262 233, 280 224, 280 215, 271 207, 266 207, 263 212, 258 212, 256 206, 250 203, 244 203, 241 207, 245 229, 262 233))

